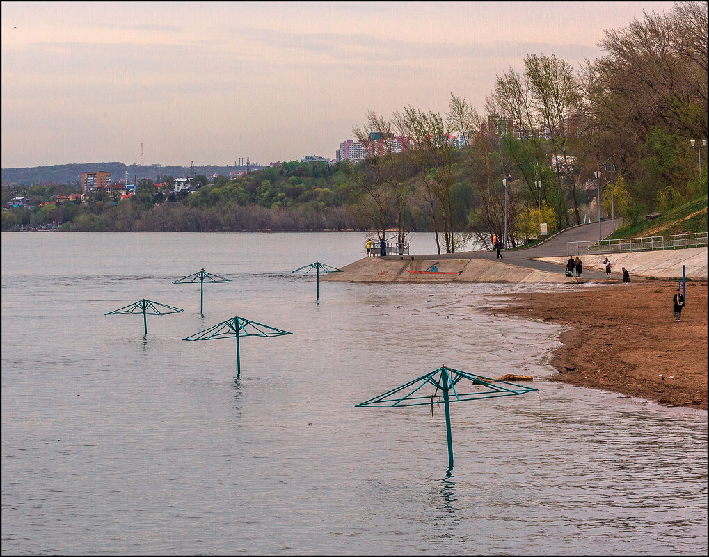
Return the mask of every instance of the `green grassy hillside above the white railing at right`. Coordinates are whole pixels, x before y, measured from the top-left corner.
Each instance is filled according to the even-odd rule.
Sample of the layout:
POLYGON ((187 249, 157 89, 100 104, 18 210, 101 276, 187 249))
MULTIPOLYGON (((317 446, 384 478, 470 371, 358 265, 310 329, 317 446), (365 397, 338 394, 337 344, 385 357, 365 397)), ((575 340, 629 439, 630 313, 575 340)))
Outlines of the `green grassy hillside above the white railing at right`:
POLYGON ((666 210, 649 223, 635 227, 624 226, 615 231, 610 239, 637 238, 644 236, 669 236, 707 231, 707 196, 700 196, 666 210))

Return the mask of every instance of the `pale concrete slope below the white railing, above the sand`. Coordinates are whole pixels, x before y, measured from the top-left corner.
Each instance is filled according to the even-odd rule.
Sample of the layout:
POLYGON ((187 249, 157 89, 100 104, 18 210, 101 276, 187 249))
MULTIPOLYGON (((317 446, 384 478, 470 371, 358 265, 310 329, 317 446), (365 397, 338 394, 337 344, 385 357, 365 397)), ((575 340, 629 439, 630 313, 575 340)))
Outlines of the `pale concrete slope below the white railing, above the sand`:
MULTIPOLYGON (((605 269, 603 259, 608 257, 613 263, 613 273, 620 273, 625 267, 631 275, 647 278, 682 278, 682 266, 688 280, 707 280, 707 248, 688 247, 685 249, 666 249, 654 252, 632 252, 584 255, 584 269, 605 269)), ((569 256, 535 257, 539 261, 548 261, 565 265, 569 256)))

